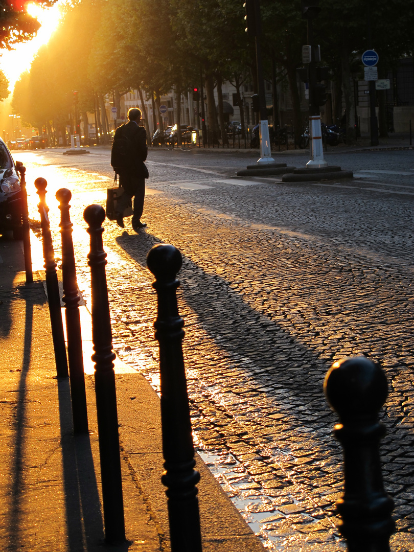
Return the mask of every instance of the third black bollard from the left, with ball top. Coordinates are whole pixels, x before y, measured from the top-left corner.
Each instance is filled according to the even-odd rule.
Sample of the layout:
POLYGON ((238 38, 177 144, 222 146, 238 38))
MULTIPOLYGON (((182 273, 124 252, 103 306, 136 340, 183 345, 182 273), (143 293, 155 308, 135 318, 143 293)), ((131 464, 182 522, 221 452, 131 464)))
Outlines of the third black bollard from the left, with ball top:
POLYGON ((72 222, 69 214, 70 190, 61 188, 56 192, 59 201, 60 233, 62 236, 62 280, 65 304, 67 358, 71 381, 73 432, 88 432, 85 376, 83 373, 81 317, 79 315, 78 284, 76 280, 75 253, 73 252, 72 222))

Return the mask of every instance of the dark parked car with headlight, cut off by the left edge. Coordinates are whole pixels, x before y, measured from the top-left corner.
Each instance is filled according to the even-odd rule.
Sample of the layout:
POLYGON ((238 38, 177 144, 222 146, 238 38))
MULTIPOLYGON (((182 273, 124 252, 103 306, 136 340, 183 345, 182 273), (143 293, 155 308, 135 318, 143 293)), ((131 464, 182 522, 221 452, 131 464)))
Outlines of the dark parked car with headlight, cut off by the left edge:
POLYGON ((12 154, 0 138, 0 233, 8 231, 22 238, 22 190, 12 154))

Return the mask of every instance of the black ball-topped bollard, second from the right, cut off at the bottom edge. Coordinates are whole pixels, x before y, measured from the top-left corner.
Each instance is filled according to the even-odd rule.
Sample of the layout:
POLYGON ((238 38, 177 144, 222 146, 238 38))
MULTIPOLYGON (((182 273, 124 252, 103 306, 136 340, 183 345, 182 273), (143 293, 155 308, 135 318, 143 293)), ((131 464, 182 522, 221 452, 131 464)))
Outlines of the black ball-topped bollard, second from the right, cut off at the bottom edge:
POLYGON ((158 243, 147 255, 156 281, 158 314, 155 337, 160 343, 161 424, 164 474, 167 487, 169 532, 172 552, 200 552, 201 530, 194 470, 194 445, 185 380, 182 339, 184 321, 178 315, 176 279, 181 253, 172 245, 158 243))

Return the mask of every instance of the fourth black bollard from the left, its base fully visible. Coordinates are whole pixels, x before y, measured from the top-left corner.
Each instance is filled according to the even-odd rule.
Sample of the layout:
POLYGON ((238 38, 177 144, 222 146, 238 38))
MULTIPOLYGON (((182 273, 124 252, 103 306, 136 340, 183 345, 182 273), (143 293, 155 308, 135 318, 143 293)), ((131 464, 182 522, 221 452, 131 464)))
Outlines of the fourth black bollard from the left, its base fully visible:
POLYGON ((105 540, 125 541, 124 501, 119 452, 118 412, 116 408, 115 353, 112 350, 112 328, 109 313, 107 254, 103 250, 102 222, 105 211, 100 205, 89 205, 83 218, 91 236, 88 265, 91 267, 92 341, 95 363, 95 396, 98 417, 100 475, 105 524, 105 540))

